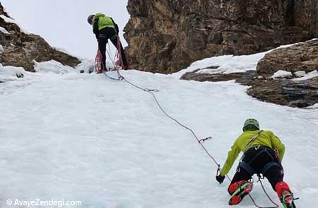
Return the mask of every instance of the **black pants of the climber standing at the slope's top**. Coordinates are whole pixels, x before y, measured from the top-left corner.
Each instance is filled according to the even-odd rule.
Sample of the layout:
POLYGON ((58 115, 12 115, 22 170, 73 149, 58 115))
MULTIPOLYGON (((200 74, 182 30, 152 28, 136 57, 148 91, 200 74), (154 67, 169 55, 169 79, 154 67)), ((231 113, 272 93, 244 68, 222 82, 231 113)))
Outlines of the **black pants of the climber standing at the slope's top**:
MULTIPOLYGON (((117 48, 118 35, 116 34, 116 30, 114 28, 102 28, 98 35, 98 49, 102 54, 102 69, 106 69, 106 45, 108 39, 112 42, 114 47, 117 48)), ((124 64, 124 68, 128 67, 126 55, 124 52, 124 48, 122 47, 122 43, 120 43, 120 50, 122 53, 122 62, 124 64)))

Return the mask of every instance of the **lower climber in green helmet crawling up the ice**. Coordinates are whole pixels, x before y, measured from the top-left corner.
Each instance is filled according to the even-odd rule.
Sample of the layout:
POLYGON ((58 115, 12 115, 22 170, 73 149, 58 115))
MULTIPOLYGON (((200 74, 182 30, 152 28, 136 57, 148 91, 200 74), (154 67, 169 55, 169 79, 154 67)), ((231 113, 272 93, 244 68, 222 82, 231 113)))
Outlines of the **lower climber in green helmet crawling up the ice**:
POLYGON ((254 174, 262 174, 269 180, 273 190, 277 192, 284 208, 295 208, 293 192, 283 181, 283 160, 285 146, 271 131, 259 130, 259 122, 248 119, 243 126, 243 133, 236 139, 228 158, 216 180, 223 183, 225 175, 232 168, 235 159, 243 152, 240 164, 232 178, 228 192, 231 195, 229 204, 235 205, 252 191, 252 182, 249 180, 254 174))

